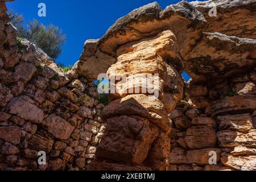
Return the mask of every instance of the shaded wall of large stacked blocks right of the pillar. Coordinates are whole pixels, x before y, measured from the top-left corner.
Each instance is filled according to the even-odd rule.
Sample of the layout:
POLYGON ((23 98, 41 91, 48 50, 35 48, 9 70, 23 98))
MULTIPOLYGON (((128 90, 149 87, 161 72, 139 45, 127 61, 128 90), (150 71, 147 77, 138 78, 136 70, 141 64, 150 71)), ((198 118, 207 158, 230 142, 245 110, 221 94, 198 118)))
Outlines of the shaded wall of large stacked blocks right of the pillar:
POLYGON ((206 85, 189 81, 187 101, 171 113, 169 169, 255 170, 255 84, 255 70, 206 85), (209 151, 217 165, 209 165, 209 151))

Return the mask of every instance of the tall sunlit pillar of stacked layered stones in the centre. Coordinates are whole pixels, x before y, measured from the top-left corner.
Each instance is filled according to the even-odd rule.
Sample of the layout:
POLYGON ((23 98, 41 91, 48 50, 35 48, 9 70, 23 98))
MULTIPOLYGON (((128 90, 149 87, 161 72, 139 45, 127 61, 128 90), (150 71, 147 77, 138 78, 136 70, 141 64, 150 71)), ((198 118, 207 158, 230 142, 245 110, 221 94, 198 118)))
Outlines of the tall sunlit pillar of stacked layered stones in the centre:
MULTIPOLYGON (((110 80, 118 76, 126 78, 112 83, 115 90, 121 88, 121 91, 113 93, 114 101, 102 111, 108 127, 96 151, 98 158, 125 164, 127 169, 130 165, 166 169, 170 152, 167 135, 171 130, 167 111, 175 107, 183 95, 183 81, 179 73, 168 65, 172 60, 182 64, 178 50, 171 31, 163 31, 153 38, 128 43, 117 49, 118 61, 107 74, 110 80), (170 57, 168 64, 165 56, 170 57), (143 74, 158 75, 153 75, 154 80, 145 76, 146 84, 140 84, 134 76, 143 74), (132 85, 129 79, 133 80, 132 85), (154 93, 147 92, 150 84, 154 84, 154 93), (164 94, 176 98, 172 106, 163 103, 164 94)), ((106 169, 104 166, 99 168, 106 169)))

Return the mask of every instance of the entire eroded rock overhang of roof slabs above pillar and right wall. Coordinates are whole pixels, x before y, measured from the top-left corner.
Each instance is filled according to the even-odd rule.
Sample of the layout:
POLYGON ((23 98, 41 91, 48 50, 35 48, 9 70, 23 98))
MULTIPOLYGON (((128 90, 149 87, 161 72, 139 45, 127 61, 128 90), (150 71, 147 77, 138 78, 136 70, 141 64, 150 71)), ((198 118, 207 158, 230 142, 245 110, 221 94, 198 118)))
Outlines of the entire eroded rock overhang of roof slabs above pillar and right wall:
POLYGON ((118 19, 101 39, 87 40, 78 70, 97 80, 117 61, 118 47, 171 30, 184 65, 172 57, 166 61, 180 73, 185 69, 194 81, 248 71, 255 67, 255 6, 254 0, 182 1, 162 10, 157 2, 150 3, 118 19), (209 16, 213 6, 216 17, 209 16))

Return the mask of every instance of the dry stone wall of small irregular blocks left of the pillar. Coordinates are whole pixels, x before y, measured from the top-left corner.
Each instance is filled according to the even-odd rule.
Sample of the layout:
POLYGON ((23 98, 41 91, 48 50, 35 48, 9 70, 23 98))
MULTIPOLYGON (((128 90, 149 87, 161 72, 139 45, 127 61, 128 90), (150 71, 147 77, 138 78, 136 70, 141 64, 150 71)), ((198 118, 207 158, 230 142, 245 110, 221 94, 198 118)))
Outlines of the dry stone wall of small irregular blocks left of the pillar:
POLYGON ((63 72, 34 44, 17 42, 3 1, 0 21, 0 169, 84 170, 106 126, 96 86, 76 65, 63 72))

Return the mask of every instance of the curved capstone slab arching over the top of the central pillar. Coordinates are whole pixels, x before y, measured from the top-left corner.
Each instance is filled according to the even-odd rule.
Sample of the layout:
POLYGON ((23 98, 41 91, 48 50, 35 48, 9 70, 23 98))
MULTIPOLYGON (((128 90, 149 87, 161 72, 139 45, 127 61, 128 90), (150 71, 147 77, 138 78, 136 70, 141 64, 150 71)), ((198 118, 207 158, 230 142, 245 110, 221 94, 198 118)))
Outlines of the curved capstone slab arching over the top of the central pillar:
MULTIPOLYGON (((174 32, 181 48, 190 47, 199 39, 200 28, 205 23, 204 16, 185 1, 167 6, 164 10, 157 2, 142 6, 118 19, 101 39, 85 42, 78 64, 79 73, 88 75, 90 80, 97 80, 97 75, 105 73, 110 65, 117 62, 117 49, 120 46, 156 36, 164 30, 174 32)), ((178 72, 183 70, 179 60, 172 61, 172 66, 178 72)))

